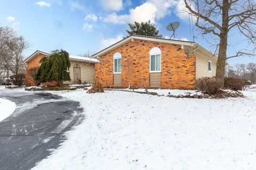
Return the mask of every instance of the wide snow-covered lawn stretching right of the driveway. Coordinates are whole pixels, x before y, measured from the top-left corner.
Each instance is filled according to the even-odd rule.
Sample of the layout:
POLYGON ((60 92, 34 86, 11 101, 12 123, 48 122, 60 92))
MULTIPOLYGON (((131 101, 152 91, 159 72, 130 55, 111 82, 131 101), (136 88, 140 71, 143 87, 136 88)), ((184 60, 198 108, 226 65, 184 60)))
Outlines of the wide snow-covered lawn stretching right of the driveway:
POLYGON ((228 99, 54 93, 81 102, 85 120, 34 170, 256 167, 256 92, 228 99))

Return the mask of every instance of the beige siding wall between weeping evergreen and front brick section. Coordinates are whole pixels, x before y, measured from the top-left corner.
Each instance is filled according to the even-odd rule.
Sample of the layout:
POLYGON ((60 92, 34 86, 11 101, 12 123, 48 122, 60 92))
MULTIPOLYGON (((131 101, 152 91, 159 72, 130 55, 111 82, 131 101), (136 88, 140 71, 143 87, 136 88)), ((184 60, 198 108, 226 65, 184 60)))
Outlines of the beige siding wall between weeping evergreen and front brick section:
POLYGON ((74 65, 78 64, 81 68, 81 82, 94 82, 95 67, 92 63, 70 61, 70 79, 71 83, 74 81, 74 65))

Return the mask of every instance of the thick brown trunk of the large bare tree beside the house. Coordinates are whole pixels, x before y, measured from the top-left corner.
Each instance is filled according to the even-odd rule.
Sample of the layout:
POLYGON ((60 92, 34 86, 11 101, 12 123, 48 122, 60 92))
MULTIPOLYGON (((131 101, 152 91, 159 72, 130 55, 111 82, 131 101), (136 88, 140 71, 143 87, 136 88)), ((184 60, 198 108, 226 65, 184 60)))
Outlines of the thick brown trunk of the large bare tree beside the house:
POLYGON ((224 82, 225 77, 225 66, 227 60, 227 46, 228 46, 228 11, 229 2, 228 0, 222 1, 222 28, 220 31, 220 46, 219 46, 219 56, 217 62, 216 77, 224 82))

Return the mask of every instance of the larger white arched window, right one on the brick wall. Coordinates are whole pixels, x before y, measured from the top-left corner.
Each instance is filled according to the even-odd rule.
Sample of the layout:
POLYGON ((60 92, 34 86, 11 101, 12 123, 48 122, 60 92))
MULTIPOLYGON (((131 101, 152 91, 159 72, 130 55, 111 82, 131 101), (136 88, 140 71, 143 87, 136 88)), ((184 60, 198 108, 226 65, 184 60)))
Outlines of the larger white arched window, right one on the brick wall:
POLYGON ((154 47, 149 52, 150 72, 161 72, 161 49, 154 47))

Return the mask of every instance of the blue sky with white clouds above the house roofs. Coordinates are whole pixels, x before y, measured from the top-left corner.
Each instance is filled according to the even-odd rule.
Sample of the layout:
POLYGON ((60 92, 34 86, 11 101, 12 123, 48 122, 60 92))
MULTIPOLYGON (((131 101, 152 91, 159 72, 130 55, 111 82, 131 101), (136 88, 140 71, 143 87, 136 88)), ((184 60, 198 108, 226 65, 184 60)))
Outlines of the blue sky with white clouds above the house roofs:
MULTIPOLYGON (((127 35, 127 23, 151 20, 163 36, 169 22, 179 21, 178 39, 190 39, 187 13, 182 12, 178 0, 9 0, 0 2, 0 26, 11 26, 30 44, 24 53, 35 50, 50 52, 63 48, 72 55, 98 50, 121 40, 127 35)), ((195 41, 211 49, 207 41, 194 31, 195 41)), ((239 39, 232 34, 230 44, 239 39)), ((228 55, 244 44, 232 44, 228 55)), ((256 57, 238 57, 228 60, 236 63, 256 62, 256 57)))

